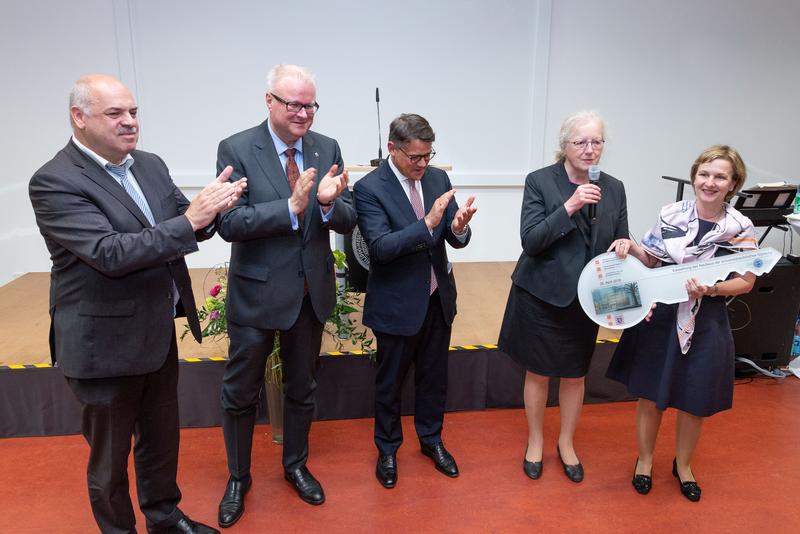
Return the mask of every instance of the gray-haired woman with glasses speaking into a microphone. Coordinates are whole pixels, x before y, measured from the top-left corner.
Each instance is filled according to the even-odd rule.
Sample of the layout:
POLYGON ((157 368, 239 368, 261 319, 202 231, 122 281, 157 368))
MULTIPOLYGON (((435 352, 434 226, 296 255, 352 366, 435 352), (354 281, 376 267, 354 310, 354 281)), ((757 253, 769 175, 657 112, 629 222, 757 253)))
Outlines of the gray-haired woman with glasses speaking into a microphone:
POLYGON ((573 113, 561 126, 556 162, 525 179, 523 252, 511 276, 498 346, 527 371, 523 470, 532 479, 542 474, 550 377, 560 379, 559 460, 573 482, 584 476, 573 438, 598 327, 581 310, 578 277, 589 260, 628 237, 622 182, 605 173, 589 182, 589 167, 599 163, 604 144, 602 118, 593 111, 573 113))

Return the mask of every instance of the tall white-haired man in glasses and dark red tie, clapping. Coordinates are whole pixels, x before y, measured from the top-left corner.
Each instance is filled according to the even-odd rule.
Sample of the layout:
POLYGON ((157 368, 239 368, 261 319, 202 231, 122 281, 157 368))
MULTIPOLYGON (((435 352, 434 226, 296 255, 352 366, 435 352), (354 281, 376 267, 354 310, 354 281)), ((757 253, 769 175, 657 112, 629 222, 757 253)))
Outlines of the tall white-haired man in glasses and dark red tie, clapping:
POLYGON ((244 512, 264 365, 280 332, 286 480, 310 504, 322 486, 306 467, 323 325, 335 303, 329 230, 349 232, 355 212, 338 143, 309 130, 319 104, 314 78, 277 65, 267 80, 269 118, 219 144, 217 168, 233 166, 248 190, 220 217, 233 243, 228 279, 229 361, 222 382, 223 431, 230 478, 219 524, 244 512), (322 178, 318 178, 323 173, 322 178))

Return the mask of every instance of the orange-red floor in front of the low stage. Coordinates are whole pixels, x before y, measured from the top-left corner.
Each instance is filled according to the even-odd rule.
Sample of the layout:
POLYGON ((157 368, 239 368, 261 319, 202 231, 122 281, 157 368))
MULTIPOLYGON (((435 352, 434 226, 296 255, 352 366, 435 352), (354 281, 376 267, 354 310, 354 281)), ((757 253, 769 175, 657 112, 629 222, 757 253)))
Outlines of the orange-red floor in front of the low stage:
MULTIPOLYGON (((691 503, 670 474, 674 412, 664 417, 653 491, 630 484, 636 457, 631 402, 586 406, 577 451, 586 468, 569 482, 555 452, 558 411, 546 412, 544 474, 521 462, 522 410, 448 414, 445 443, 461 469, 448 479, 419 453, 413 423, 393 490, 374 477, 371 420, 314 423, 309 466, 327 502, 312 507, 283 481, 280 446, 259 426, 254 484, 242 520, 226 532, 798 532, 800 381, 740 381, 734 409, 710 418, 694 462, 703 489, 691 503)), ((216 524, 227 479, 219 428, 182 431, 182 508, 216 524)), ((0 532, 96 532, 86 497, 87 446, 79 436, 0 440, 0 532)), ((144 519, 138 516, 140 532, 144 519)))

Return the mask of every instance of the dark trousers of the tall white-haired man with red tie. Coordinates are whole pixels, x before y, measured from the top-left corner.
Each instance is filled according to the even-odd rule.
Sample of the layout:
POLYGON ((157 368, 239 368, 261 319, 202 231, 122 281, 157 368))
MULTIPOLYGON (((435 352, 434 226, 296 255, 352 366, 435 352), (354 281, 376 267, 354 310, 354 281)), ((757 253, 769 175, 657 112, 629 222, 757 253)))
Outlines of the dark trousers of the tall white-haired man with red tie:
MULTIPOLYGON (((280 333, 283 467, 286 471, 304 466, 308 459, 308 431, 314 415, 322 326, 306 296, 297 321, 289 330, 280 333)), ((275 330, 228 321, 228 336, 231 344, 222 378, 222 430, 228 471, 234 478, 242 479, 250 474, 256 407, 264 387, 264 370, 267 356, 272 352, 275 330)))

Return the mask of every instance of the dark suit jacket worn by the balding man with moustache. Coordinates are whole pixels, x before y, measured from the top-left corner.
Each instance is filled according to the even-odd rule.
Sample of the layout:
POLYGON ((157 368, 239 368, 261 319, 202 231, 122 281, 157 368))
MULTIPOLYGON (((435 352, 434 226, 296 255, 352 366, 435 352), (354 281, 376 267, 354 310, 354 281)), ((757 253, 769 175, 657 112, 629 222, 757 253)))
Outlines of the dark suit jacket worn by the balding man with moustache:
POLYGON ((210 237, 192 231, 189 202, 155 154, 134 150, 131 172, 151 226, 105 169, 70 141, 31 178, 36 223, 50 251, 51 351, 72 378, 161 368, 175 333, 173 282, 200 341, 183 256, 210 237))

